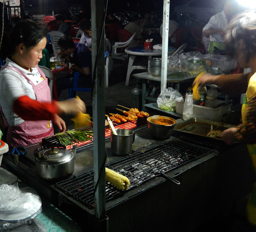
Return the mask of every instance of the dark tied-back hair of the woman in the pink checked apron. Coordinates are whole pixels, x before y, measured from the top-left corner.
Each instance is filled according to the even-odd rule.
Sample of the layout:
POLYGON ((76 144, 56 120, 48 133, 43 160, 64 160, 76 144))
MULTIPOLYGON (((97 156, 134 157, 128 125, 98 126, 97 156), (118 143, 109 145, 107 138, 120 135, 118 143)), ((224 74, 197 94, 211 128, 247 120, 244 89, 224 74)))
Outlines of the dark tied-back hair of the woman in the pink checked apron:
POLYGON ((30 19, 21 20, 10 32, 10 53, 14 54, 16 46, 20 43, 31 50, 44 38, 47 37, 47 27, 42 23, 30 19))

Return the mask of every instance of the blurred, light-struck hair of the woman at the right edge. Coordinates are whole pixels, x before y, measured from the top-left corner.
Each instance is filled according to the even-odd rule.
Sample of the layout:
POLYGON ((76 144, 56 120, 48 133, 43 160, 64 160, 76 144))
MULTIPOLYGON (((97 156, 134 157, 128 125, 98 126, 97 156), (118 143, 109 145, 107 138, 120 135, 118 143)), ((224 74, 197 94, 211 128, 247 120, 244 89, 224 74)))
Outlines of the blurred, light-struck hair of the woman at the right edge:
POLYGON ((246 62, 256 56, 256 10, 244 11, 234 16, 225 28, 225 47, 227 54, 237 58, 237 51, 241 46, 246 62))

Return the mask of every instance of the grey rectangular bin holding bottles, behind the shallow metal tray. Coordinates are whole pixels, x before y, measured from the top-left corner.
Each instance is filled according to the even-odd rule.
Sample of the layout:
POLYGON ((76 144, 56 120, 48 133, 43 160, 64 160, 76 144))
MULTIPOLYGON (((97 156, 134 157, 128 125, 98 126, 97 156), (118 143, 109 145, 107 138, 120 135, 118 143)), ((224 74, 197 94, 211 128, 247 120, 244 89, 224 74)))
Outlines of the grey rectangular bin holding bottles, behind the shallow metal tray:
MULTIPOLYGON (((182 114, 184 108, 184 99, 183 97, 176 98, 176 113, 182 114)), ((216 100, 216 105, 224 102, 221 100, 216 100)), ((230 110, 231 103, 227 106, 218 107, 216 109, 212 109, 205 106, 193 105, 193 118, 203 118, 215 122, 221 122, 223 115, 230 110)))

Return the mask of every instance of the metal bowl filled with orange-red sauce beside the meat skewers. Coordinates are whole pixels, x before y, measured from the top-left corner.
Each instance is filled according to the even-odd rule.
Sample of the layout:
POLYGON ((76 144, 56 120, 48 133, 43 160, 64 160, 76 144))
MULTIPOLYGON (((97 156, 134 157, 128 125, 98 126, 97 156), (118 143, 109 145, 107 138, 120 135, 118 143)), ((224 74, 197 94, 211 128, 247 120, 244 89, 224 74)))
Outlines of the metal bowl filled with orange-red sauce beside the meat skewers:
POLYGON ((147 118, 148 129, 154 138, 167 139, 169 138, 176 125, 176 120, 170 117, 154 115, 147 118))

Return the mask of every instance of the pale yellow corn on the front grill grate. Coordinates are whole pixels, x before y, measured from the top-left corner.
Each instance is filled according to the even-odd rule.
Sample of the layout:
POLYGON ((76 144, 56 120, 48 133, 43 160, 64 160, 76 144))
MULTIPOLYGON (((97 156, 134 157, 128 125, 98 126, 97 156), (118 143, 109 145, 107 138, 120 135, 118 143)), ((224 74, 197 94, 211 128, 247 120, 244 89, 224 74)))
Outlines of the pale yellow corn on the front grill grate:
POLYGON ((109 168, 106 168, 106 181, 110 182, 120 190, 126 190, 130 185, 130 181, 126 176, 110 170, 109 168))

